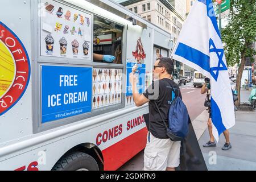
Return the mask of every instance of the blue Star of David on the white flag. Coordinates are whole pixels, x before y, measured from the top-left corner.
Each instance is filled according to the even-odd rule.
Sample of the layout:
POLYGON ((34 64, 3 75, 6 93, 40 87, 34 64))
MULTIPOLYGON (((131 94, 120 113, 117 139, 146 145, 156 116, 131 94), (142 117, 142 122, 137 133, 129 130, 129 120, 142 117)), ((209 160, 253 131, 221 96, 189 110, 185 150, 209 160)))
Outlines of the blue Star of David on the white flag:
POLYGON ((216 52, 216 55, 218 56, 218 67, 210 67, 210 75, 212 75, 214 80, 217 81, 218 73, 220 71, 228 70, 228 68, 226 67, 226 64, 223 61, 224 49, 217 49, 212 39, 209 40, 209 48, 210 48, 210 52, 216 52), (216 71, 216 73, 214 73, 214 71, 216 71))

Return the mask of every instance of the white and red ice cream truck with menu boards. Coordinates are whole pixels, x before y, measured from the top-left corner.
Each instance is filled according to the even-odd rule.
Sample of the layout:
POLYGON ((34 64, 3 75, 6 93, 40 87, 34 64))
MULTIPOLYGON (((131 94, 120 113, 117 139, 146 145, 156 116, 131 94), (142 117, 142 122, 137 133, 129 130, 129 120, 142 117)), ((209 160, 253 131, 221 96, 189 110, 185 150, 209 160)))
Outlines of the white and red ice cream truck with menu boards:
POLYGON ((1 1, 0 170, 115 170, 133 158, 148 105, 135 106, 129 74, 137 64, 144 92, 170 38, 113 1, 1 1))

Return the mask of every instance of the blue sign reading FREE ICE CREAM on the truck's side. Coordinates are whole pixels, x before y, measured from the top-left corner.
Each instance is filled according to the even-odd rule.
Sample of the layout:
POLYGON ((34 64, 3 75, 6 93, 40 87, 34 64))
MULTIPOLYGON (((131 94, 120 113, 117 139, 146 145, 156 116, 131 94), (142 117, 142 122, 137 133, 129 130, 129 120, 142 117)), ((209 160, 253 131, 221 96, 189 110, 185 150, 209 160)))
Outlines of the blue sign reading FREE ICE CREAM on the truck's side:
POLYGON ((42 123, 92 111, 92 68, 42 66, 42 123))

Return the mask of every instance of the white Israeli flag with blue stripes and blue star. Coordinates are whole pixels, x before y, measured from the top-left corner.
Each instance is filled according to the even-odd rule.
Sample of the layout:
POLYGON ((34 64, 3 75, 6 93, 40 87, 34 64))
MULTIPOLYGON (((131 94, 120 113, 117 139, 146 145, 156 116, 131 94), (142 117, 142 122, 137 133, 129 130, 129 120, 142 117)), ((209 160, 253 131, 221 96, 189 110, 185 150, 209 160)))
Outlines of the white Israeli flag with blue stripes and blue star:
POLYGON ((220 134, 234 126, 235 117, 228 67, 211 0, 195 1, 171 57, 210 78, 213 135, 218 142, 220 134))

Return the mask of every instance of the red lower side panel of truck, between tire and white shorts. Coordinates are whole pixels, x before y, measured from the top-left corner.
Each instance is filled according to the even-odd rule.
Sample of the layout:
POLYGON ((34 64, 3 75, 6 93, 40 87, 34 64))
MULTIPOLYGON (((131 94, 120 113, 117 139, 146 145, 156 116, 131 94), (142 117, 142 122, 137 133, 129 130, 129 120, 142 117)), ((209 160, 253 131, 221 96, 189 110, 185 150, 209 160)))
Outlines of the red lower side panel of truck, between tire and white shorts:
POLYGON ((146 147, 147 127, 122 139, 102 151, 104 158, 104 170, 113 171, 121 167, 128 160, 146 147))

